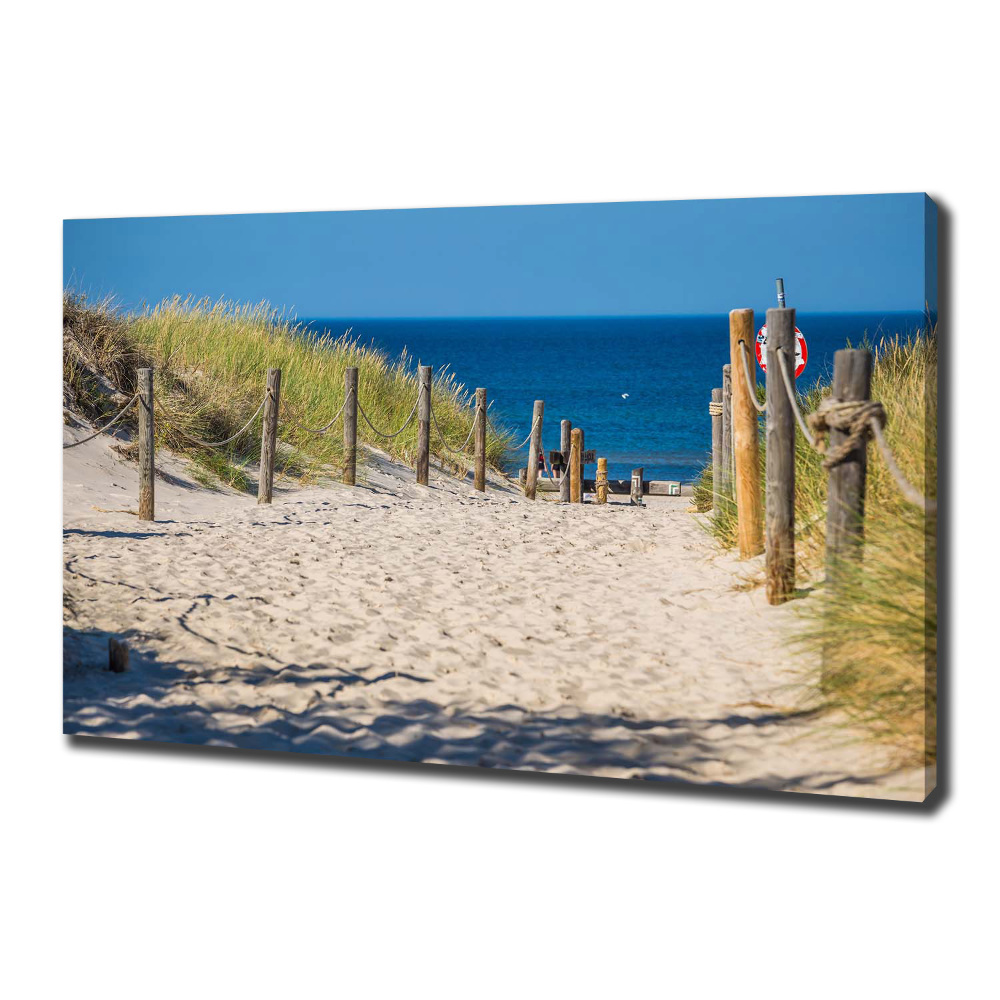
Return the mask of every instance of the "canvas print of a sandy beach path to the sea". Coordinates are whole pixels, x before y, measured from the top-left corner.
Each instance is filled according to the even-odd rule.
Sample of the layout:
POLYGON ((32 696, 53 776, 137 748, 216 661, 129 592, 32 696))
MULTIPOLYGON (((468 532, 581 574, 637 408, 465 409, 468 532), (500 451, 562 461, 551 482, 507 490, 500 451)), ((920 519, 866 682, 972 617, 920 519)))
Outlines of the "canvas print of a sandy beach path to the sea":
POLYGON ((922 801, 936 365, 923 194, 68 220, 64 732, 922 801))

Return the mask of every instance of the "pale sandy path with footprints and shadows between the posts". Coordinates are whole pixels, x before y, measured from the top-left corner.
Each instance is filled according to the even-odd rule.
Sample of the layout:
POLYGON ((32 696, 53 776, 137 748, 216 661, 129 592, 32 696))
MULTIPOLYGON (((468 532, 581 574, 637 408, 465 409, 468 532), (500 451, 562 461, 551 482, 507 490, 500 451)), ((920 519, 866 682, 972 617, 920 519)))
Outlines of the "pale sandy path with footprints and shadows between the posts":
MULTIPOLYGON (((67 430, 67 440, 82 431, 67 430)), ((159 455, 155 523, 101 437, 64 453, 65 731, 922 799, 857 733, 794 712, 795 604, 740 589, 685 498, 485 495, 380 459, 273 506, 159 455), (95 508, 105 508, 102 512, 95 508), (131 670, 107 671, 107 636, 131 670)))

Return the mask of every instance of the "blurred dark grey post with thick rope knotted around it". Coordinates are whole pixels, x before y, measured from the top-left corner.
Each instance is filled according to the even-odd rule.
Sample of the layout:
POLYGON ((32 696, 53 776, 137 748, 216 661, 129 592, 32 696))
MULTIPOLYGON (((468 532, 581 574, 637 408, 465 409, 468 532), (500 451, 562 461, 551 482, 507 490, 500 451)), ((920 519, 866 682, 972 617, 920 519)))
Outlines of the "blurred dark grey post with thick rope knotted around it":
MULTIPOLYGON (((768 339, 771 331, 768 329, 768 339)), ((871 398, 870 351, 844 350, 833 356, 834 399, 856 402, 871 398)), ((830 431, 830 451, 843 443, 843 431, 830 431)), ((826 578, 836 579, 837 565, 857 557, 864 541, 865 478, 868 448, 862 444, 830 469, 826 507, 826 578)))

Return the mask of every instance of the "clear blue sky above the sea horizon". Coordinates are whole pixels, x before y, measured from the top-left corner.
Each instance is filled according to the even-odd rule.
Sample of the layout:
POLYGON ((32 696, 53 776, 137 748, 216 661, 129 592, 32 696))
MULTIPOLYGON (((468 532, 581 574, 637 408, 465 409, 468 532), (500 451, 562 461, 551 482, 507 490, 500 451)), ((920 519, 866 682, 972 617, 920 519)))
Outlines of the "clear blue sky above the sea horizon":
POLYGON ((923 194, 301 212, 64 223, 63 280, 300 317, 936 310, 923 194), (925 250, 927 258, 925 260, 925 250))

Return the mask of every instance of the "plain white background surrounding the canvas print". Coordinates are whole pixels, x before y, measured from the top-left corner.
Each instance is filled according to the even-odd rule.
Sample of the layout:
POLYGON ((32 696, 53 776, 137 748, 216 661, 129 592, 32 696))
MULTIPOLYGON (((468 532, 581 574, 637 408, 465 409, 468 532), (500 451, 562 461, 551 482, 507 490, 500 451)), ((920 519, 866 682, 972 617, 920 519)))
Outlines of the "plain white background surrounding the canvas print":
POLYGON ((971 12, 988 9, 6 10, 4 395, 22 421, 4 448, 8 995, 987 992, 997 80, 971 12), (60 735, 64 217, 886 191, 927 191, 949 219, 936 809, 60 735))

